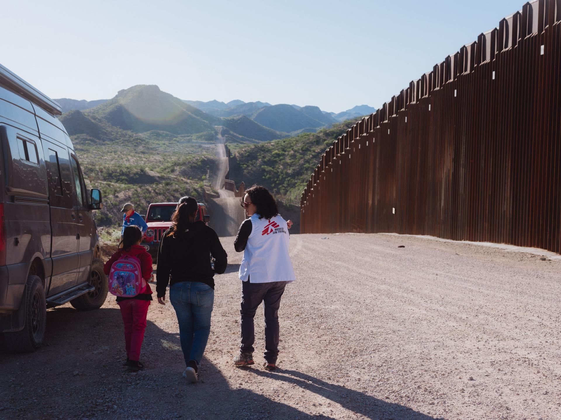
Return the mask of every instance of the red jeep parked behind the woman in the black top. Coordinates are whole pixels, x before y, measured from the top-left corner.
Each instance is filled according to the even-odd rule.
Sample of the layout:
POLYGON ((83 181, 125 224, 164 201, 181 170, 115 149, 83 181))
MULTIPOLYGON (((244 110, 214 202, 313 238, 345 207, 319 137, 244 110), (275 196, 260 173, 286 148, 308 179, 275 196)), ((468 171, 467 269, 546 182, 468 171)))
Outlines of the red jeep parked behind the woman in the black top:
MULTIPOLYGON (((197 211, 196 220, 201 220, 208 225, 210 216, 206 212, 206 204, 198 204, 199 211, 197 211)), ((177 203, 151 203, 150 206, 148 206, 148 212, 146 212, 148 230, 146 230, 146 234, 142 237, 140 245, 144 246, 152 256, 154 264, 157 262, 158 258, 160 239, 164 232, 172 225, 172 214, 176 207, 177 203)))

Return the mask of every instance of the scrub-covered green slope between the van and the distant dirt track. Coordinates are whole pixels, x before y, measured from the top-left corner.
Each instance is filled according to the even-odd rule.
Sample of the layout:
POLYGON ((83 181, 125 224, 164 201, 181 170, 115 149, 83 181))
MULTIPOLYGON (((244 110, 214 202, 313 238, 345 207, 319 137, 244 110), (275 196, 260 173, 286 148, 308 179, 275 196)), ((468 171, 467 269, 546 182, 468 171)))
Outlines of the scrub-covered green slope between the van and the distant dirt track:
POLYGON ((217 195, 210 184, 214 147, 205 143, 155 141, 141 135, 130 141, 102 143, 80 134, 72 136, 72 141, 86 184, 102 190, 104 207, 95 212, 99 226, 118 227, 122 223, 119 206, 126 202, 134 203, 144 214, 152 202, 173 202, 183 195, 201 200, 217 195))

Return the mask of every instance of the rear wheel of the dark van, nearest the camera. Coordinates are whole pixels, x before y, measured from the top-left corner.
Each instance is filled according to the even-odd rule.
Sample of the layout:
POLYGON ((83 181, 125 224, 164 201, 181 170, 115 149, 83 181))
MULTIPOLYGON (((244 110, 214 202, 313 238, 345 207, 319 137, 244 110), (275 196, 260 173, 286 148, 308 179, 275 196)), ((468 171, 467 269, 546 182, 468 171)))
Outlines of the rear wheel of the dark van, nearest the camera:
POLYGON ((4 343, 10 353, 33 352, 41 346, 45 337, 47 302, 43 281, 39 276, 27 276, 24 299, 24 329, 15 333, 4 333, 4 343))

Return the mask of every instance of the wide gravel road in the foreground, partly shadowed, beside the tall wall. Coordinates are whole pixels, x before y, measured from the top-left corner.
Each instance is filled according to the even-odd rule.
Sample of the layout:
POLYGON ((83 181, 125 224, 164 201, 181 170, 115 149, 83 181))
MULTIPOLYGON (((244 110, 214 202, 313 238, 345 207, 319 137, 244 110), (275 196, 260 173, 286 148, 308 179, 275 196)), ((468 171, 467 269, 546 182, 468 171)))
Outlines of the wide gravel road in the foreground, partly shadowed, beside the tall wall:
MULTIPOLYGON (((559 419, 561 261, 388 235, 294 235, 282 370, 231 366, 241 255, 217 276, 200 382, 171 305, 153 303, 139 374, 122 371, 114 297, 48 310, 45 346, 0 354, 0 418, 559 419), (404 245, 404 248, 398 246, 404 245)), ((264 350, 263 312, 256 353, 264 350)))

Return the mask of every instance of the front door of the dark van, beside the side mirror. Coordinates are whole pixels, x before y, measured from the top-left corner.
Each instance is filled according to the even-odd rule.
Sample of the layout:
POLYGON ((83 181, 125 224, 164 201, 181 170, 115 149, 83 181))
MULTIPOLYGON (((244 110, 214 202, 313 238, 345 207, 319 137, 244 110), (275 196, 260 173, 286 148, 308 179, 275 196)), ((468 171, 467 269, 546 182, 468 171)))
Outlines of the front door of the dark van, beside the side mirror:
POLYGON ((91 259, 94 255, 95 242, 97 234, 93 214, 90 211, 89 194, 86 190, 84 177, 80 170, 78 159, 71 152, 70 162, 72 166, 72 175, 76 190, 76 199, 74 200, 74 212, 77 215, 77 237, 78 237, 78 256, 79 256, 79 272, 78 283, 88 281, 90 275, 91 259))

